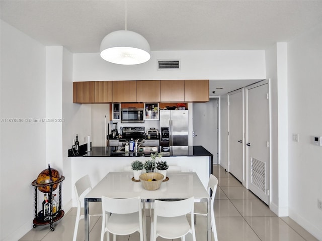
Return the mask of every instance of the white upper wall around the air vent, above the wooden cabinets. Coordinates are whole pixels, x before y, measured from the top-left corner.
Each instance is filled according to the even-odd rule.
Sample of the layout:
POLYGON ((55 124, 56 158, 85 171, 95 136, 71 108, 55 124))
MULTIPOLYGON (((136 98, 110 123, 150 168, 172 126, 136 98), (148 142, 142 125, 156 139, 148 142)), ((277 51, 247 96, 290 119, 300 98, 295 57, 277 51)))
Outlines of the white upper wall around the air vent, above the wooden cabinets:
POLYGON ((153 79, 265 79, 265 51, 152 51, 141 65, 106 62, 99 53, 74 54, 73 81, 153 79), (158 59, 181 59, 181 70, 157 70, 158 59))

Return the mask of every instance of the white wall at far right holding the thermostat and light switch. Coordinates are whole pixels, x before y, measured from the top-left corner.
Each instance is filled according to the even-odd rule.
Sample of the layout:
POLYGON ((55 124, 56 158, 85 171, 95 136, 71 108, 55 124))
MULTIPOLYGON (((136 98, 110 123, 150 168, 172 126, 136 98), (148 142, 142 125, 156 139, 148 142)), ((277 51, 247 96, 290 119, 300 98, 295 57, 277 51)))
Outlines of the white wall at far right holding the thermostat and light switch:
POLYGON ((322 240, 322 24, 288 44, 289 216, 322 240), (299 142, 292 134, 299 134, 299 142))

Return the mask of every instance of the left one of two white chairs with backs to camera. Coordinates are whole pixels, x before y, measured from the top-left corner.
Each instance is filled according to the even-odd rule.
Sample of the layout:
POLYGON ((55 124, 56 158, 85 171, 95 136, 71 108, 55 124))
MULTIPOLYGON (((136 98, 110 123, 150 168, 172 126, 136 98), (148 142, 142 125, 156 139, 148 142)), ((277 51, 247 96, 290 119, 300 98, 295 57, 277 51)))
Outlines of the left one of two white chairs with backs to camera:
POLYGON ((115 241, 116 235, 128 235, 136 231, 140 233, 140 241, 146 241, 146 220, 140 197, 116 199, 103 196, 102 212, 101 241, 105 233, 108 241, 110 233, 113 233, 115 241))

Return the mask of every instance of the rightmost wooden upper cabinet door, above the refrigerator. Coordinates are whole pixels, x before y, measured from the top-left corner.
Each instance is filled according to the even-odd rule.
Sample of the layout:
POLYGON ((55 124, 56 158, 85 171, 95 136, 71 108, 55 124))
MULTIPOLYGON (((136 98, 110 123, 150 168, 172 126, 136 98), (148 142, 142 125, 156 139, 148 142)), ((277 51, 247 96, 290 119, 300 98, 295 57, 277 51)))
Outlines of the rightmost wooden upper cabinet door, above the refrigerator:
POLYGON ((185 102, 208 102, 209 80, 185 80, 185 102))

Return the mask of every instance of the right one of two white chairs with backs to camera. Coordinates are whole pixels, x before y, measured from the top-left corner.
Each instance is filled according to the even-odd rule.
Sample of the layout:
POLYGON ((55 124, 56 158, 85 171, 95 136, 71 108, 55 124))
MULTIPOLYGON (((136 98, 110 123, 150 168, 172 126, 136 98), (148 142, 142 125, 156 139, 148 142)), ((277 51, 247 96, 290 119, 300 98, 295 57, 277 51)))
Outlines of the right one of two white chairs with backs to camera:
POLYGON ((180 201, 154 201, 153 218, 151 218, 151 241, 158 236, 173 239, 181 237, 185 241, 187 233, 196 241, 193 224, 194 197, 180 201), (186 217, 190 214, 190 223, 186 217))

